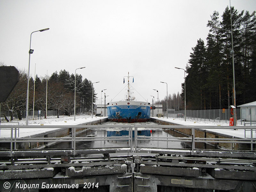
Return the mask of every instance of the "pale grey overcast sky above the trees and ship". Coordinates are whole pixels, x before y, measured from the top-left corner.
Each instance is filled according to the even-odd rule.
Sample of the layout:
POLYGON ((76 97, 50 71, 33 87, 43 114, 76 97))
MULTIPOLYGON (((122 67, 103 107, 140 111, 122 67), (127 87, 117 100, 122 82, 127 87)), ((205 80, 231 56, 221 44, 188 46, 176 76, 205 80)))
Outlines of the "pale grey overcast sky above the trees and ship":
MULTIPOLYGON (((206 44, 207 21, 221 15, 229 0, 0 0, 0 61, 41 77, 61 69, 76 72, 94 84, 98 98, 107 89, 107 102, 134 76, 132 86, 146 100, 181 92, 184 71, 197 39, 206 44)), ((238 12, 256 11, 255 0, 231 0, 238 12)), ((132 79, 131 79, 132 80, 132 79)), ((114 100, 124 99, 125 89, 114 100)), ((137 100, 144 99, 134 91, 137 100)), ((100 101, 97 100, 97 104, 100 101)))

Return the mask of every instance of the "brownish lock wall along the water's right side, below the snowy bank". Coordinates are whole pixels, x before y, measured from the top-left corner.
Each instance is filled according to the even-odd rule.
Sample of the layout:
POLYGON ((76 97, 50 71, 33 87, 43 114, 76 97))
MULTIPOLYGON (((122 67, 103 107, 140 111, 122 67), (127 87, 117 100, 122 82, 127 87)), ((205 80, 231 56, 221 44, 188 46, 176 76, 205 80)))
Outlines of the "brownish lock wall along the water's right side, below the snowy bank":
MULTIPOLYGON (((178 123, 173 123, 173 122, 169 122, 166 121, 164 119, 161 118, 150 118, 151 121, 157 123, 157 124, 161 124, 161 125, 182 125, 182 124, 178 124, 178 123)), ((184 126, 184 125, 183 125, 184 126)), ((186 125, 186 127, 189 127, 189 125, 186 125)), ((222 133, 218 133, 218 132, 214 132, 214 131, 210 131, 210 130, 205 130, 205 129, 200 129, 200 126, 198 126, 198 128, 195 128, 195 137, 199 137, 199 138, 228 138, 228 139, 232 139, 232 138, 239 138, 239 137, 234 137, 231 135, 227 135, 227 134, 222 134, 222 133)), ((173 128, 174 131, 176 132, 180 132, 184 135, 187 136, 191 136, 191 129, 186 129, 186 128, 173 128)), ((200 143, 197 143, 198 145, 200 145, 200 143)), ((228 148, 228 149, 233 149, 233 150, 250 150, 250 144, 241 144, 241 143, 209 143, 212 146, 215 147, 220 147, 220 148, 228 148)), ((202 144, 201 144, 202 147, 202 144)))

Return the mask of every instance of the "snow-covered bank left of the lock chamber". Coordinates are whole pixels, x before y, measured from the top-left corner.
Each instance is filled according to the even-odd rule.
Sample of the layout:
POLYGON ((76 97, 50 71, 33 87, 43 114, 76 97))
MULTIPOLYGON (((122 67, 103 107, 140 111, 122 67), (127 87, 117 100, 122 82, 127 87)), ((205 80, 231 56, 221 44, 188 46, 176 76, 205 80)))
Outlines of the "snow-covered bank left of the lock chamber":
MULTIPOLYGON (((87 123, 95 120, 99 120, 106 117, 95 117, 90 115, 76 115, 76 121, 74 121, 74 116, 60 116, 60 118, 57 118, 56 116, 48 116, 47 119, 28 119, 28 125, 38 125, 38 128, 20 128, 19 133, 20 137, 26 137, 30 135, 35 135, 39 133, 44 133, 60 128, 44 128, 43 125, 79 125, 82 123, 87 123)), ((3 125, 26 125, 26 119, 22 120, 16 120, 14 119, 12 122, 1 122, 0 128, 3 125)), ((0 130, 0 137, 9 137, 11 136, 11 130, 10 129, 3 129, 0 130)), ((13 137, 14 137, 14 130, 13 130, 13 137)), ((18 137, 18 131, 17 131, 17 137, 18 137)))

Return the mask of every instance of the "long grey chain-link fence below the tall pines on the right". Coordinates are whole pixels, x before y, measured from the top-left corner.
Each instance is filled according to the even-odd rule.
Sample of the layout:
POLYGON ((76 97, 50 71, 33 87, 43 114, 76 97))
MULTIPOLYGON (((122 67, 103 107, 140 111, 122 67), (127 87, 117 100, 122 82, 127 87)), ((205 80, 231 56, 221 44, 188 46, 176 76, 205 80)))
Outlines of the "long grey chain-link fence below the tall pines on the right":
MULTIPOLYGON (((184 118, 185 110, 168 111, 168 117, 184 118)), ((225 121, 227 123, 230 117, 232 117, 230 109, 186 110, 186 119, 197 121, 225 121)), ((236 109, 236 118, 241 119, 240 109, 236 109)))

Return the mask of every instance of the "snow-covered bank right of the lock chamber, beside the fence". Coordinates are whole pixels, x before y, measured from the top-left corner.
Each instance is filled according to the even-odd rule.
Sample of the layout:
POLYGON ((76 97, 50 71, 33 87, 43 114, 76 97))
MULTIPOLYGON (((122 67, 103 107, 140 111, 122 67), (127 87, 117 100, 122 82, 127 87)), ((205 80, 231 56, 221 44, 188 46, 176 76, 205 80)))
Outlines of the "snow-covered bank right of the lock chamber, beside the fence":
MULTIPOLYGON (((158 117, 152 117, 155 119, 159 119, 158 117)), ((168 119, 166 117, 161 117, 161 120, 170 122, 170 123, 176 123, 176 124, 180 124, 180 125, 193 125, 193 126, 229 126, 229 122, 227 121, 227 123, 225 122, 225 120, 217 120, 215 122, 213 121, 199 121, 199 120, 194 120, 194 119, 189 119, 187 118, 186 121, 184 120, 184 118, 173 118, 173 117, 169 117, 168 119)), ((241 122, 237 122, 237 126, 241 127, 243 125, 241 125, 241 122)), ((247 126, 246 128, 248 129, 250 126, 247 126)), ((230 126, 231 129, 205 129, 205 128, 201 128, 201 129, 205 129, 208 131, 212 131, 212 132, 217 132, 217 133, 221 133, 221 134, 225 134, 225 135, 230 135, 230 136, 234 136, 234 137, 239 137, 239 138, 244 138, 244 129, 238 129, 238 130, 234 130, 233 126, 230 126)), ((251 131, 246 131, 245 134, 246 138, 251 138, 251 131)), ((256 137, 256 130, 253 130, 252 133, 253 138, 256 137)))

